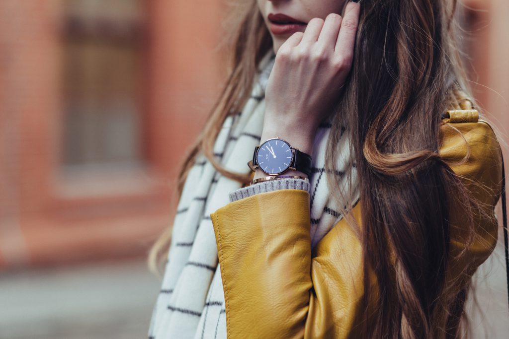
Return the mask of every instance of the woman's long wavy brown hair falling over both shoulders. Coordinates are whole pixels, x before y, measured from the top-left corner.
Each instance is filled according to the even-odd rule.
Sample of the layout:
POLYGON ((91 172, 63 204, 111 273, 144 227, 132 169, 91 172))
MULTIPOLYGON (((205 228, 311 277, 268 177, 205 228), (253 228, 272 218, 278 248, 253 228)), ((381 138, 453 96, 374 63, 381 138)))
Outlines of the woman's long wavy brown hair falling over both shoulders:
MULTIPOLYGON (((213 156, 222 122, 241 110, 259 61, 272 48, 256 1, 247 2, 232 29, 230 76, 184 161, 179 196, 199 152, 222 175, 249 181, 213 156)), ((334 168, 341 127, 347 126, 362 210, 365 307, 359 331, 373 338, 456 337, 469 280, 445 280, 448 203, 468 197, 439 155, 442 113, 457 104, 454 89, 467 90, 455 42, 456 1, 363 0, 361 6, 353 68, 338 95, 325 166, 329 190, 348 202, 341 206, 349 218, 351 197, 342 196, 334 168), (369 284, 371 272, 378 292, 369 284)), ((167 229, 151 249, 153 270, 167 254, 170 234, 167 229)))

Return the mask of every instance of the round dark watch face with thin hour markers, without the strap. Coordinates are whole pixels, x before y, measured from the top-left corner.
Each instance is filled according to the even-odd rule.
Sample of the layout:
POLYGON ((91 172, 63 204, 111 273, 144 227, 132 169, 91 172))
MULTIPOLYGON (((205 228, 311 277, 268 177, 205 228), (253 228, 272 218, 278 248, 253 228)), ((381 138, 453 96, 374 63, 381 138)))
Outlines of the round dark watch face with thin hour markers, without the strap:
POLYGON ((267 174, 280 174, 292 163, 292 149, 281 139, 269 139, 258 149, 258 166, 267 174))

